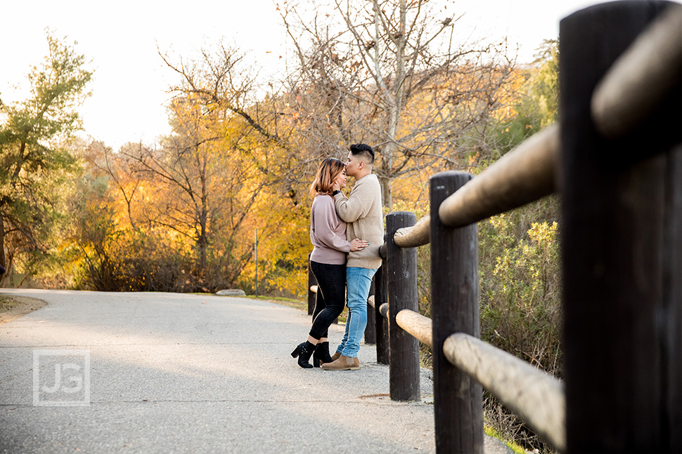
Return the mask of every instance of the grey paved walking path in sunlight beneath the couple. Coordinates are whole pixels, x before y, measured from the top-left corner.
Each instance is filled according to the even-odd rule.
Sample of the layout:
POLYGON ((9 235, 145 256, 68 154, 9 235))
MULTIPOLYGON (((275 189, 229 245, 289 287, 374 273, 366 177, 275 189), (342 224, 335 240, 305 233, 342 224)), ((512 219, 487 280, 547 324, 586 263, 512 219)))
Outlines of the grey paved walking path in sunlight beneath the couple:
MULTIPOLYGON (((398 403, 373 346, 361 346, 360 370, 304 370, 290 356, 309 329, 300 310, 215 295, 0 293, 48 303, 0 325, 1 453, 435 452, 430 371, 423 401, 398 403)), ((342 334, 333 326, 330 343, 342 334)))

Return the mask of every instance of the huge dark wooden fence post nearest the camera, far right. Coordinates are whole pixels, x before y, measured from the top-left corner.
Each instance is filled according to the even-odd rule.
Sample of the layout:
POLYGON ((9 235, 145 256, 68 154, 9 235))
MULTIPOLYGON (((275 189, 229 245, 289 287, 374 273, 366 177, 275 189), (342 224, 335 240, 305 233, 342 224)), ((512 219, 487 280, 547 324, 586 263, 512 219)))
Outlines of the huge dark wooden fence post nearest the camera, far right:
POLYGON ((590 114, 598 81, 669 5, 617 1, 560 23, 569 453, 682 446, 681 92, 617 140, 590 114))

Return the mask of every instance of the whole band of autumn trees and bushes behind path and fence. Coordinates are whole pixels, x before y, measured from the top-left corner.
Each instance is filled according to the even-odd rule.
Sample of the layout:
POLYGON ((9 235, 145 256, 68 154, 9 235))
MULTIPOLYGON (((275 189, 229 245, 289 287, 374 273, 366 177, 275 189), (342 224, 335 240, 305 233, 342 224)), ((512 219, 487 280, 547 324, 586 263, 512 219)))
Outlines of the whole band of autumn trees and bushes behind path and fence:
MULTIPOLYGON (((385 213, 421 217, 430 175, 480 173, 555 121, 555 43, 519 66, 496 46, 454 46, 456 21, 422 18, 421 2, 386 1, 385 11, 367 2, 354 18, 335 4, 341 31, 324 21, 308 27, 292 4, 283 10, 297 62, 276 83, 260 83, 243 53, 223 44, 179 59, 160 54, 176 75, 173 133, 117 150, 70 134, 73 100, 90 73, 82 56, 50 38, 53 56, 68 63, 51 70, 63 69, 57 76, 65 81, 50 86, 50 69, 36 72, 36 100, 0 103, 2 284, 257 287, 302 300, 307 189, 321 159, 345 159, 351 143, 370 143, 385 213), (57 89, 60 98, 41 97, 57 89), (44 109, 31 108, 40 102, 44 109)), ((556 375, 559 229, 554 198, 479 225, 482 338, 556 375)), ((428 255, 427 246, 419 249, 427 315, 428 255)))

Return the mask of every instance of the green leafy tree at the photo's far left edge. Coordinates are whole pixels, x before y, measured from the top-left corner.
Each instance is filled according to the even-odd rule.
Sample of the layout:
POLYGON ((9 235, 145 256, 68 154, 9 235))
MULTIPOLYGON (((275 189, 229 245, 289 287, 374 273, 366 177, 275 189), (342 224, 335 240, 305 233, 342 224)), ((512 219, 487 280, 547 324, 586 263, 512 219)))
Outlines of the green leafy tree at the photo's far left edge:
POLYGON ((58 216, 60 187, 75 160, 59 141, 79 128, 76 108, 92 72, 63 41, 47 34, 49 55, 28 75, 31 96, 11 105, 0 102, 0 262, 11 276, 18 255, 46 253, 58 216), (5 257, 5 249, 8 256, 5 257))

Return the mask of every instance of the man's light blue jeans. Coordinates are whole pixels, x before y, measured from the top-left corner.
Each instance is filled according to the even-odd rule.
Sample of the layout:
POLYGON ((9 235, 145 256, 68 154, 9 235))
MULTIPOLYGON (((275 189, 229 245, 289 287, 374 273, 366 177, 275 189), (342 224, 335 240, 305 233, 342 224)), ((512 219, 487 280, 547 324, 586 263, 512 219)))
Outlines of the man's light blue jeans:
POLYGON ((346 294, 348 295, 348 319, 346 332, 336 349, 343 356, 357 358, 360 340, 367 326, 367 298, 376 269, 346 268, 346 294))

